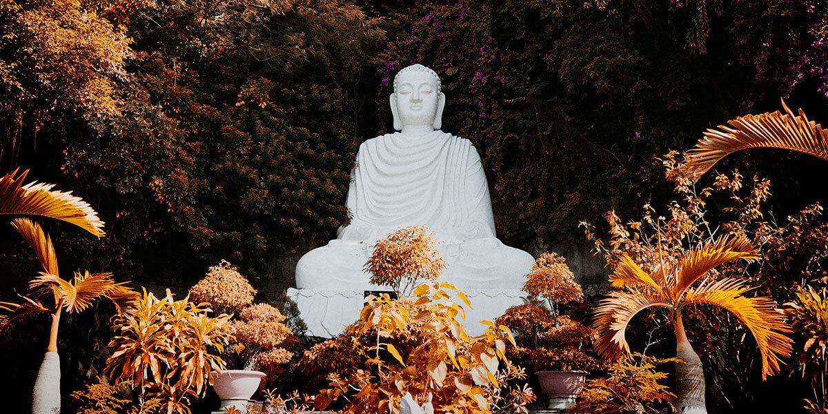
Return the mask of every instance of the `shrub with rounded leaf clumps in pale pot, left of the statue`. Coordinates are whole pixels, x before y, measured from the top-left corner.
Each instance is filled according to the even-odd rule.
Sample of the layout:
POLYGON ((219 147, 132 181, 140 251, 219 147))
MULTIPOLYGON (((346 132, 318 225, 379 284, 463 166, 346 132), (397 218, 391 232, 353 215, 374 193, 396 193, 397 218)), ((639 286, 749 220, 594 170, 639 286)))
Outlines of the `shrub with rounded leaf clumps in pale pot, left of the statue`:
POLYGON ((234 339, 222 354, 228 369, 212 373, 213 388, 222 400, 220 410, 236 407, 243 412, 267 373, 276 372, 292 356, 284 348, 293 334, 282 324, 286 316, 265 303, 253 304, 254 296, 256 289, 247 278, 224 260, 190 288, 193 301, 233 315, 227 329, 234 339))

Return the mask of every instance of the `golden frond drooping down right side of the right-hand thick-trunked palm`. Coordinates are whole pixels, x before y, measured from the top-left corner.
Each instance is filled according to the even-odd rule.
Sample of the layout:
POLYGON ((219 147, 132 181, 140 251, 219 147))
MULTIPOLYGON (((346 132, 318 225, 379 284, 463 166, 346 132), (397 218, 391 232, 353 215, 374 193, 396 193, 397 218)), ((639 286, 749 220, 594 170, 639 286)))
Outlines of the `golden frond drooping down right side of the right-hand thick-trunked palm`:
POLYGON ((756 339, 762 354, 762 378, 765 379, 778 373, 781 358, 791 354, 793 341, 784 333, 792 330, 773 299, 744 296, 748 290, 744 282, 727 278, 690 289, 684 299, 686 304, 708 303, 736 315, 756 339))

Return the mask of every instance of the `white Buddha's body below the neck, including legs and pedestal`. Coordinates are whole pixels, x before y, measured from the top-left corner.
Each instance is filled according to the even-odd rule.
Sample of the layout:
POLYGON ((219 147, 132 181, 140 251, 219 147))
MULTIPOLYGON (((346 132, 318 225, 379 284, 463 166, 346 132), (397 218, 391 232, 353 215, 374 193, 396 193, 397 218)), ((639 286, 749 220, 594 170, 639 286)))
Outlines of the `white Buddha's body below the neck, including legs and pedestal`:
MULTIPOLYGON (((363 142, 345 201, 352 219, 337 238, 296 263, 296 301, 308 335, 332 337, 354 322, 374 286, 363 270, 373 245, 397 229, 425 225, 445 260, 440 279, 465 292, 470 321, 495 320, 522 303, 525 275, 535 260, 498 240, 489 185, 467 139, 434 131, 401 132, 363 142)), ((480 335, 485 325, 470 323, 480 335)))

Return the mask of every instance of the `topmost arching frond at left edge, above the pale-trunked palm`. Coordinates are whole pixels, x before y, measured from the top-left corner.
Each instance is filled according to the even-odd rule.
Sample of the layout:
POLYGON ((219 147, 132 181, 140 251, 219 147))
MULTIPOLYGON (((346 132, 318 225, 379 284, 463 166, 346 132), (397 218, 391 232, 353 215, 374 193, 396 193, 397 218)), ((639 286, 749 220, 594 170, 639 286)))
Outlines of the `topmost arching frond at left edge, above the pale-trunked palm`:
POLYGON ((31 182, 23 185, 28 171, 18 170, 0 177, 0 214, 41 215, 75 224, 101 237, 103 221, 89 203, 71 191, 52 190, 53 184, 31 182))

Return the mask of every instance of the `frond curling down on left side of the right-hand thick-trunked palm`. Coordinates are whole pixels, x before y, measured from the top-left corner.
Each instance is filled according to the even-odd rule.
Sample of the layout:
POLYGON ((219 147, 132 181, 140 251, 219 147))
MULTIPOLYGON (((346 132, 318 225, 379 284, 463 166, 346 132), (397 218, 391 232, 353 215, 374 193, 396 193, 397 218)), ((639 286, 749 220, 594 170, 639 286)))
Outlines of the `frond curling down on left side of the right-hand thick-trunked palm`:
POLYGON ((609 292, 609 297, 595 308, 592 327, 599 332, 595 350, 608 359, 618 359, 629 354, 625 334, 633 316, 653 306, 672 309, 667 297, 647 292, 609 292))

